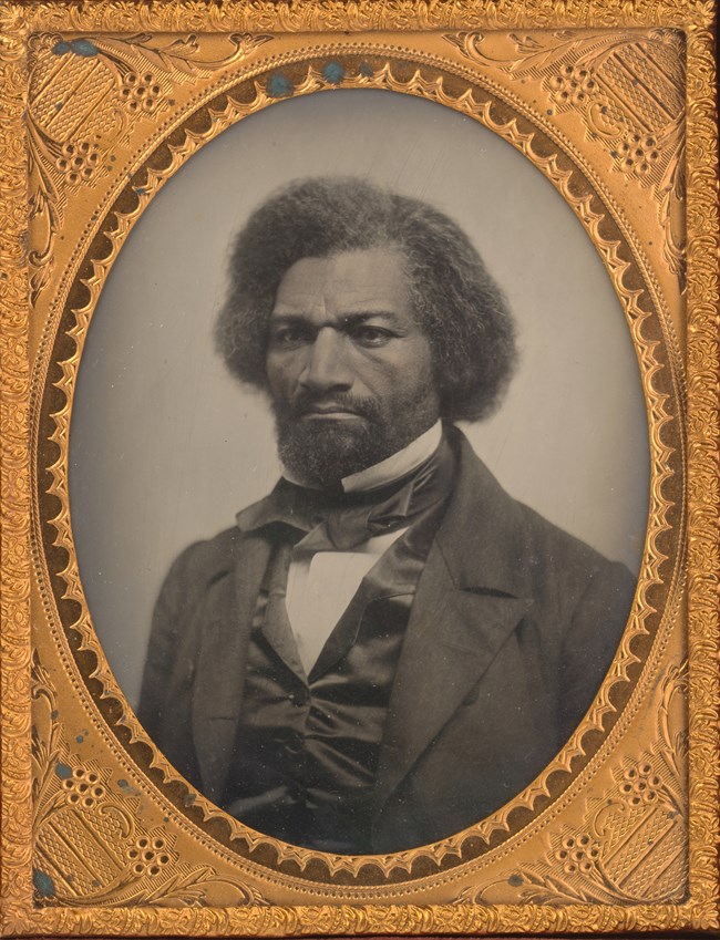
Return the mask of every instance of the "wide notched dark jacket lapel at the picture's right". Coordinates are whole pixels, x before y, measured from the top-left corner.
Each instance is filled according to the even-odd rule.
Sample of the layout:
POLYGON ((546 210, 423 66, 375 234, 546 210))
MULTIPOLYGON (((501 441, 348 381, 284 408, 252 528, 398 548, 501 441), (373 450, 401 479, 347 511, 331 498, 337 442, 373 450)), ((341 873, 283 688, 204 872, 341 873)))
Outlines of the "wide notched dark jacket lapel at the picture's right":
MULTIPOLYGON (((450 431, 451 440, 455 436, 450 431)), ((456 438, 455 438, 456 440, 456 438)), ((376 812, 492 664, 533 605, 514 503, 464 438, 453 497, 425 561, 390 699, 376 812)))

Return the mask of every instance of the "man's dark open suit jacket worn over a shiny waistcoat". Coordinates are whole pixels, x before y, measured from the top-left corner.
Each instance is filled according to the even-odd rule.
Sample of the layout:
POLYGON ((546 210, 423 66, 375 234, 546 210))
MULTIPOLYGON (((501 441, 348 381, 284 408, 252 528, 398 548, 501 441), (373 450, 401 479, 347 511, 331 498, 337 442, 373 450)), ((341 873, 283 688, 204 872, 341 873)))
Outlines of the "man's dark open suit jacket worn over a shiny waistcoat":
MULTIPOLYGON (((632 598, 623 565, 512 499, 460 432, 451 437, 459 476, 418 583, 384 727, 378 853, 459 831, 531 783, 595 696, 632 598)), ((261 531, 237 528, 191 546, 155 611, 140 719, 216 803, 270 549, 261 531)))

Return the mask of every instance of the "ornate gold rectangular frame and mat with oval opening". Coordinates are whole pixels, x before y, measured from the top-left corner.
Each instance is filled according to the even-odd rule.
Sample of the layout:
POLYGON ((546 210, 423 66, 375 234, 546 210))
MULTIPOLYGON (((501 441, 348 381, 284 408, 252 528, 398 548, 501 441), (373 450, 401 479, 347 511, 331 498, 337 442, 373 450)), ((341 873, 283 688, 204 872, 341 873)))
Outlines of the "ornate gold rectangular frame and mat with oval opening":
POLYGON ((713 24, 692 0, 0 8, 4 934, 720 928, 713 24), (246 829, 153 747, 68 497, 85 331, 133 223, 225 127, 338 86, 463 112, 553 182, 623 301, 652 457, 634 612, 576 734, 488 819, 359 858, 246 829))

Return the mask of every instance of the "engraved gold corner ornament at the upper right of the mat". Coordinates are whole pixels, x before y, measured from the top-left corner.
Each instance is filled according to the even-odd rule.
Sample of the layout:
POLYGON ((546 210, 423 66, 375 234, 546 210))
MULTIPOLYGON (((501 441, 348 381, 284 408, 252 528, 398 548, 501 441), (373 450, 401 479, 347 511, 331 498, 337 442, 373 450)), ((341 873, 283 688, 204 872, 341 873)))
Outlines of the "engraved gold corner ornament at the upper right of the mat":
POLYGON ((514 81, 541 80, 548 114, 575 111, 588 140, 603 142, 614 169, 659 196, 665 259, 683 283, 685 70, 677 30, 598 33, 562 30, 508 37, 504 54, 487 49, 481 32, 448 34, 462 55, 514 81))

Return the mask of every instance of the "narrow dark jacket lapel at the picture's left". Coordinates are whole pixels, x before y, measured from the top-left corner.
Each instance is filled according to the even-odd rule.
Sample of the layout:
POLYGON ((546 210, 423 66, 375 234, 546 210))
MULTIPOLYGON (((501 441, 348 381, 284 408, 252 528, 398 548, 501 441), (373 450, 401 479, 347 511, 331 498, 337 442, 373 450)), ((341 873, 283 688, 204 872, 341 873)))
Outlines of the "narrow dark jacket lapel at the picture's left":
POLYGON ((271 544, 253 533, 239 539, 240 557, 219 575, 200 612, 193 737, 203 792, 218 803, 229 772, 257 595, 271 544))

